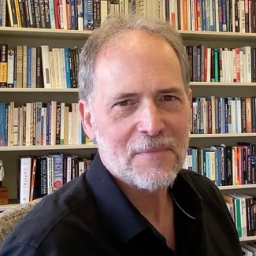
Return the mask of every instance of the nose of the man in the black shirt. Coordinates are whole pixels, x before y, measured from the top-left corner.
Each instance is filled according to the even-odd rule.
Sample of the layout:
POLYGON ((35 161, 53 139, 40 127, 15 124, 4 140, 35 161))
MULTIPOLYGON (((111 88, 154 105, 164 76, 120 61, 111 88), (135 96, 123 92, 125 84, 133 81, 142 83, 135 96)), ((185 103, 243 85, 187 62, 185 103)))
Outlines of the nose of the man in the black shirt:
POLYGON ((165 123, 162 120, 161 113, 158 110, 158 106, 154 102, 148 102, 139 110, 139 123, 138 131, 147 133, 147 135, 155 136, 163 128, 165 123))

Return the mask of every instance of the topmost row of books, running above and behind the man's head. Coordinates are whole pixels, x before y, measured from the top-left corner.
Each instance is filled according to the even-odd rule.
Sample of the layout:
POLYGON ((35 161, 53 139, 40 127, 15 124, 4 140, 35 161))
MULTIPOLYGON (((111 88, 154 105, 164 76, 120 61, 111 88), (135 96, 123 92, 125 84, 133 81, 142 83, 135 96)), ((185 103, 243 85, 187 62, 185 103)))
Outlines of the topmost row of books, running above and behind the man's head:
POLYGON ((136 13, 180 30, 256 32, 254 0, 10 0, 7 12, 0 4, 0 26, 93 30, 108 14, 136 13))

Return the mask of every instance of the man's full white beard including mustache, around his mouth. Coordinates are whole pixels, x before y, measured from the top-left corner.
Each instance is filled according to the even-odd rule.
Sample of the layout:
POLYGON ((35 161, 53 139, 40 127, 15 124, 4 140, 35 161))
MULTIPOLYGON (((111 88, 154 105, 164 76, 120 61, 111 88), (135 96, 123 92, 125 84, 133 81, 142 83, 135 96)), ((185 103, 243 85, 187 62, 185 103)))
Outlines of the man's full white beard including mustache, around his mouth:
POLYGON ((131 184, 138 189, 146 191, 156 191, 159 188, 167 188, 173 186, 176 176, 184 165, 189 143, 190 126, 187 125, 187 135, 182 141, 177 141, 172 137, 160 133, 158 136, 150 137, 142 135, 135 142, 128 142, 125 152, 121 154, 116 147, 113 147, 111 139, 100 135, 95 125, 95 118, 92 117, 91 123, 95 129, 96 143, 98 144, 98 152, 102 163, 106 166, 109 173, 123 180, 127 184, 131 184), (153 147, 169 147, 176 156, 176 161, 170 168, 163 168, 161 159, 152 163, 147 169, 132 165, 132 156, 139 150, 147 150, 153 147))

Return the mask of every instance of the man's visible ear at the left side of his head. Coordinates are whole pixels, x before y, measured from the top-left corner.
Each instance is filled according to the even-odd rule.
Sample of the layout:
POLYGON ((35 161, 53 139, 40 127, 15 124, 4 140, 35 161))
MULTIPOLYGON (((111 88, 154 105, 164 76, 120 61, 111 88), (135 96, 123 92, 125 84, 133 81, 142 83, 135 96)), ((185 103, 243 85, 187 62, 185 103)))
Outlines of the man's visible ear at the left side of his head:
POLYGON ((83 131, 91 140, 95 140, 95 130, 91 124, 91 108, 85 99, 80 99, 78 108, 83 125, 83 131))

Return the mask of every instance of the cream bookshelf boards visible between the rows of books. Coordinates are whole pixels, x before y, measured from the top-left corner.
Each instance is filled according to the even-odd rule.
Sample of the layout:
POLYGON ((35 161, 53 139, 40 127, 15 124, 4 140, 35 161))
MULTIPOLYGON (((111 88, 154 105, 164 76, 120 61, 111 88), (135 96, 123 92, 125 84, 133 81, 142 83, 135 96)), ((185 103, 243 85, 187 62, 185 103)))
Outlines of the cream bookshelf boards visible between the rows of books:
MULTIPOLYGON (((48 29, 48 28, 9 28, 0 27, 0 43, 8 43, 10 47, 17 45, 30 45, 39 47, 49 45, 54 47, 81 47, 91 31, 48 29)), ((256 33, 241 32, 207 32, 207 31, 184 31, 180 30, 186 46, 208 47, 256 47, 256 33)), ((193 97, 250 97, 256 96, 256 82, 233 83, 233 82, 191 82, 193 97)), ((77 101, 76 88, 0 88, 0 102, 16 102, 24 105, 26 102, 60 101, 71 104, 77 101)), ((235 144, 237 141, 255 142, 255 133, 222 133, 222 134, 191 134, 191 145, 195 147, 207 147, 216 143, 235 144)), ((9 197, 17 197, 16 176, 19 155, 40 156, 47 153, 62 152, 65 154, 78 154, 89 156, 97 150, 97 145, 46 145, 46 146, 15 146, 0 147, 0 159, 4 161, 6 174, 5 184, 9 187, 9 197)), ((223 194, 250 193, 256 195, 256 184, 241 184, 219 186, 223 194)), ((0 206, 0 211, 17 206, 15 203, 0 206)), ((241 243, 256 241, 256 236, 242 237, 241 243)))

